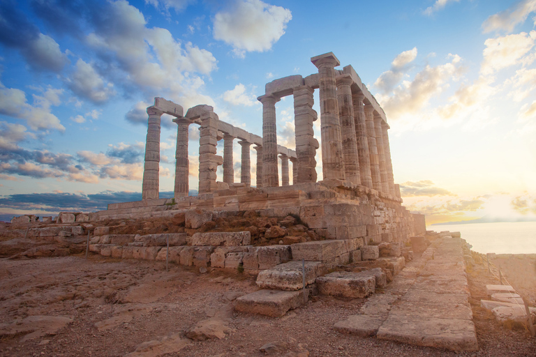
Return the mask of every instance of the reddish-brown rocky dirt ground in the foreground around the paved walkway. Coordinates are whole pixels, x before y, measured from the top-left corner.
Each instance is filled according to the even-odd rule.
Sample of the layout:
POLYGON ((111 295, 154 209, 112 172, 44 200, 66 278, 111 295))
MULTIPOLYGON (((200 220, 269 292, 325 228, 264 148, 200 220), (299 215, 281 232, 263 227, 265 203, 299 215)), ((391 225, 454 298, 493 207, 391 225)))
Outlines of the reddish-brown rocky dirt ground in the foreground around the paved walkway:
POLYGON ((535 356, 525 328, 479 307, 497 283, 486 266, 468 278, 479 351, 455 354, 334 331, 365 299, 313 296, 271 318, 234 312, 258 289, 239 273, 83 253, 0 259, 0 356, 535 356))

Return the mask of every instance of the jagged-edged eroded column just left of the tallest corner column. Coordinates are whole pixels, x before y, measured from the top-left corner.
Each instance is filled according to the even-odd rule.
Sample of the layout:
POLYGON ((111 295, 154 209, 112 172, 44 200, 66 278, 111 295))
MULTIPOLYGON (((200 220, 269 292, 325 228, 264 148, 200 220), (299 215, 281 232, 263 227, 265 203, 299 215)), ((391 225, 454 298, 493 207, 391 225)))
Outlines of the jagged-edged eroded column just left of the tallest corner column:
MULTIPOLYGON (((297 169, 298 176, 293 184, 316 182, 316 149, 318 140, 315 139, 313 121, 318 114, 313 110, 314 89, 310 86, 298 86, 294 89, 294 125, 296 133, 297 162, 292 162, 292 170, 297 169)), ((292 160, 292 159, 291 159, 292 160)))

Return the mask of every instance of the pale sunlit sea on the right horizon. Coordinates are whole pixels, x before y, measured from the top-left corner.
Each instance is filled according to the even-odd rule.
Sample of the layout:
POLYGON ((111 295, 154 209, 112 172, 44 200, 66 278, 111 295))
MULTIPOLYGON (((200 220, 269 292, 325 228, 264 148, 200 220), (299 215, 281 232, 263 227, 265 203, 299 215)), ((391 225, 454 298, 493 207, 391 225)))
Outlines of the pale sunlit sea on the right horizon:
POLYGON ((429 231, 460 231, 461 238, 479 253, 536 254, 536 222, 430 225, 429 231))

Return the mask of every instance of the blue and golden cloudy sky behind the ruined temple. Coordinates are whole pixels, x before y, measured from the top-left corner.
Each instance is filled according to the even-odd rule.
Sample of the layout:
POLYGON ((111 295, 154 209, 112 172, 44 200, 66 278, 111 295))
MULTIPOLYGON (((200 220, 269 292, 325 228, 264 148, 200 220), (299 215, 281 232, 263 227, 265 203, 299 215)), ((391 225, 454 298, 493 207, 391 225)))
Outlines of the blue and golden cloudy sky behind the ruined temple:
MULTIPOLYGON (((316 73, 326 52, 385 109, 408 209, 427 224, 536 220, 535 27, 536 0, 0 0, 0 220, 141 199, 154 97, 212 105, 262 135, 265 84, 316 73)), ((276 116, 293 149, 292 97, 276 116)), ((161 197, 173 195, 171 119, 161 197)), ((189 135, 195 190, 197 126, 189 135)), ((235 141, 237 182, 239 160, 235 141)))

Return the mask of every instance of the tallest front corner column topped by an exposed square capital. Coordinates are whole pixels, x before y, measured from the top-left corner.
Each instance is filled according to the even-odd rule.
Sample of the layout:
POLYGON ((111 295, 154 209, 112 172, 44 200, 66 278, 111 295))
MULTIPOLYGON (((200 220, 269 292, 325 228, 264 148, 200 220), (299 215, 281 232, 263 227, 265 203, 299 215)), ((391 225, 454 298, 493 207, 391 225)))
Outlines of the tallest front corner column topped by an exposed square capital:
POLYGON ((322 172, 324 179, 344 179, 341 124, 338 120, 338 102, 335 86, 335 66, 339 61, 329 52, 315 56, 311 62, 320 75, 320 128, 322 130, 322 172))

